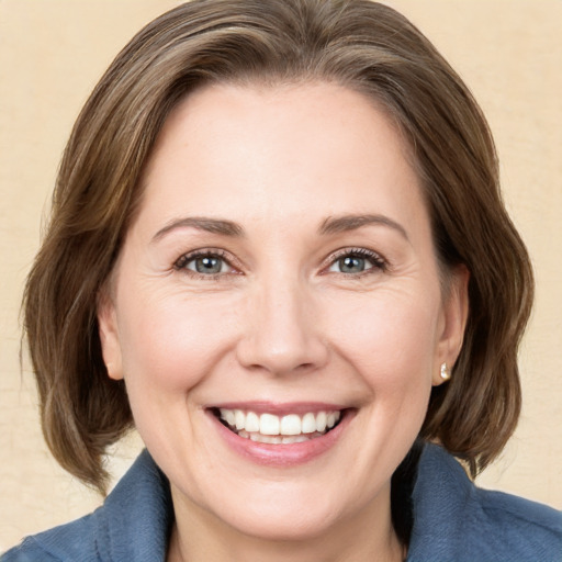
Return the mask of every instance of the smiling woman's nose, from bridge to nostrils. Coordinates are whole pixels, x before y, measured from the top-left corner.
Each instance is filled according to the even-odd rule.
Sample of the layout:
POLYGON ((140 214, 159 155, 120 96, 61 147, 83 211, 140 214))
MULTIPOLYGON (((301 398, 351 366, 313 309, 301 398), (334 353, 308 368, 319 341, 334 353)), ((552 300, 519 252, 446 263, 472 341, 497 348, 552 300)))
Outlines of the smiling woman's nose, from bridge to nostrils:
POLYGON ((252 371, 272 375, 321 369, 328 347, 321 336, 317 304, 297 282, 272 280, 248 299, 238 361, 252 371))

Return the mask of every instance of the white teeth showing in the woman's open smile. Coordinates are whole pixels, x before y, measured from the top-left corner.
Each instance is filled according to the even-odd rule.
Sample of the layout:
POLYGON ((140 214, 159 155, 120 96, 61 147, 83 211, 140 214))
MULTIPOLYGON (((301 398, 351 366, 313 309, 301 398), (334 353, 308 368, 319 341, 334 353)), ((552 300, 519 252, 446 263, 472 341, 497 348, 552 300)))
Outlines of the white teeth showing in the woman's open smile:
POLYGON ((241 409, 221 408, 221 419, 224 419, 231 429, 246 439, 262 443, 295 443, 307 441, 313 437, 310 434, 325 434, 331 429, 341 416, 341 412, 308 412, 304 416, 288 414, 261 414, 244 412, 241 409))

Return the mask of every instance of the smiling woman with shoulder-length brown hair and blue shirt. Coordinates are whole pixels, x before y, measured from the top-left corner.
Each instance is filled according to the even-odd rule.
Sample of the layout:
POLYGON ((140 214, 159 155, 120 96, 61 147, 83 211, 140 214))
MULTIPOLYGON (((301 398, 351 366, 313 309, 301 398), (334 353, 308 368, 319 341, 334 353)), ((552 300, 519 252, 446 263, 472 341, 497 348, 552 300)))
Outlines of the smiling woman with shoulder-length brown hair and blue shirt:
POLYGON ((486 123, 404 18, 183 4, 86 104, 25 296, 57 460, 103 492, 147 450, 3 560, 559 560, 559 513, 452 457, 513 432, 531 300, 486 123))

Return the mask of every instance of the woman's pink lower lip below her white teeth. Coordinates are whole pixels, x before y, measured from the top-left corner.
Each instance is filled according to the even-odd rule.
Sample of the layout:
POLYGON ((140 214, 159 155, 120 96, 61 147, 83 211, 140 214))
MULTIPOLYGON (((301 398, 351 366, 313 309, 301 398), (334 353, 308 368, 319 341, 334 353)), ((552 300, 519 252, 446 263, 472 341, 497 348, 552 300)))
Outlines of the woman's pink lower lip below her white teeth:
POLYGON ((235 452, 257 464, 283 468, 304 464, 331 449, 349 425, 353 417, 353 411, 346 411, 339 424, 322 437, 315 437, 301 443, 284 445, 260 443, 239 437, 225 427, 214 414, 209 412, 209 415, 221 437, 235 452))

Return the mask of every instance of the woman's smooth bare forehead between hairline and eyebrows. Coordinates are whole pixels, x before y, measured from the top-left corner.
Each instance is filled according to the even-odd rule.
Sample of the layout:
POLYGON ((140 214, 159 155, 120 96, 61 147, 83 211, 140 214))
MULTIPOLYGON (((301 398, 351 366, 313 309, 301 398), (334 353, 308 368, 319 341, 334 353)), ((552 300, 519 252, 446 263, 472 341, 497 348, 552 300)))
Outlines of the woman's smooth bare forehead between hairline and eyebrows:
POLYGON ((251 223, 425 213, 394 124, 366 95, 333 83, 213 85, 191 93, 165 123, 143 183, 142 207, 155 216, 251 223))

